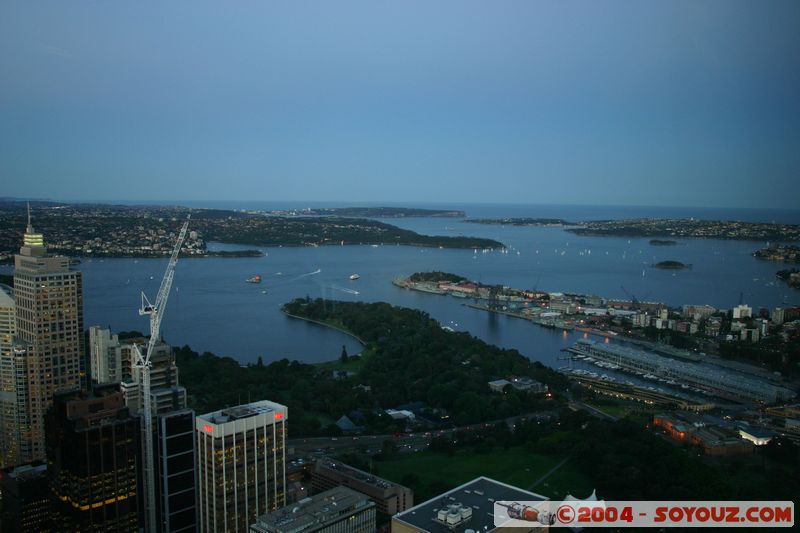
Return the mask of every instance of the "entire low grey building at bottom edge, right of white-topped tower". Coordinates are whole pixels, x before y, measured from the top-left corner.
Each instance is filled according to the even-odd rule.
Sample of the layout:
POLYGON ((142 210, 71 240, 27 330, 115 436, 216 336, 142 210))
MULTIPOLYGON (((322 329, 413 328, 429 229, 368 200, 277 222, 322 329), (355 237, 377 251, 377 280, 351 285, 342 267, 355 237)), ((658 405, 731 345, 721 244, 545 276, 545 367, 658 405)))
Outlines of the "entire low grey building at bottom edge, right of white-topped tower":
POLYGON ((259 516, 250 533, 373 533, 375 514, 365 495, 336 487, 259 516))

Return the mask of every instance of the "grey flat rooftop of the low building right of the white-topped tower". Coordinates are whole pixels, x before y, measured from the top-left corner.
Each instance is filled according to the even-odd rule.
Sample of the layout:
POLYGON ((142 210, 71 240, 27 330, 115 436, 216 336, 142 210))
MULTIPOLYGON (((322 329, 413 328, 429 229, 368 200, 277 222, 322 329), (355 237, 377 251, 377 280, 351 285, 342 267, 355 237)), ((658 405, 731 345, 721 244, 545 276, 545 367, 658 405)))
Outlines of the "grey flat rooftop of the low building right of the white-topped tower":
POLYGON ((374 506, 374 502, 359 492, 347 487, 335 487, 259 516, 251 526, 251 531, 307 531, 342 515, 374 506))

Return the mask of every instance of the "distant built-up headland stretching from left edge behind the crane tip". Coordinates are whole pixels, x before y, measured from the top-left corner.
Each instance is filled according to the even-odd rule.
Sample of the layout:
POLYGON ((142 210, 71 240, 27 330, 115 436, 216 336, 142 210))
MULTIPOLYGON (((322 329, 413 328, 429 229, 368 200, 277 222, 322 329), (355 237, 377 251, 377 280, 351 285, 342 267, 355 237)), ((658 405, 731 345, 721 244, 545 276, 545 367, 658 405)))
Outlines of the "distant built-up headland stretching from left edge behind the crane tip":
MULTIPOLYGON (((209 242, 264 246, 395 244, 438 248, 503 248, 501 242, 465 236, 429 236, 369 219, 284 217, 181 206, 125 206, 36 202, 34 223, 47 246, 71 257, 164 257, 183 220, 191 215, 185 257, 257 257, 260 250, 212 251, 209 242)), ((22 242, 26 204, 0 202, 0 261, 22 242)))

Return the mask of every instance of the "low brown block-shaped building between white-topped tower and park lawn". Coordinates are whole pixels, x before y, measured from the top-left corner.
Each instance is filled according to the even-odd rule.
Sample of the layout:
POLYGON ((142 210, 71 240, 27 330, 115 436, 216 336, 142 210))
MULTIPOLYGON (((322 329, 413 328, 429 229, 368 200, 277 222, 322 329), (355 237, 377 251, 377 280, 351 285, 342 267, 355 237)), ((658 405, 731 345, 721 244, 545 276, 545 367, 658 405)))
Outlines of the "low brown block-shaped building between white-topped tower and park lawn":
POLYGON ((369 496, 375 501, 377 511, 382 515, 392 516, 414 505, 414 492, 408 487, 339 461, 319 459, 311 477, 314 494, 340 485, 369 496))

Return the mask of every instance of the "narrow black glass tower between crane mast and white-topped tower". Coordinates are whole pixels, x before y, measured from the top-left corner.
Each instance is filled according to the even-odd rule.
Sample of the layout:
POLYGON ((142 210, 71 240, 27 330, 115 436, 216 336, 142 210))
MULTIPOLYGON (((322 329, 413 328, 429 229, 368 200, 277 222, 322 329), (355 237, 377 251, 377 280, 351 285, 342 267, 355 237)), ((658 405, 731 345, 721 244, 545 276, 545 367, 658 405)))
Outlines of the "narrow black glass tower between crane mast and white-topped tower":
POLYGON ((156 506, 163 533, 197 531, 195 417, 191 409, 159 415, 154 432, 156 506))

